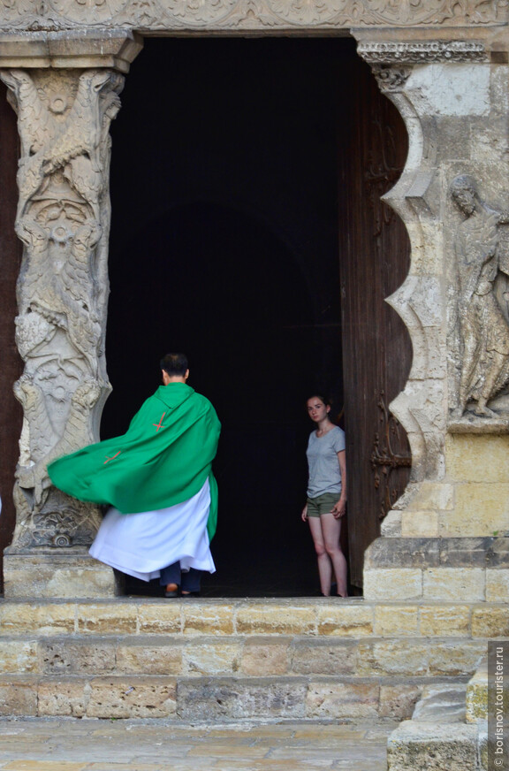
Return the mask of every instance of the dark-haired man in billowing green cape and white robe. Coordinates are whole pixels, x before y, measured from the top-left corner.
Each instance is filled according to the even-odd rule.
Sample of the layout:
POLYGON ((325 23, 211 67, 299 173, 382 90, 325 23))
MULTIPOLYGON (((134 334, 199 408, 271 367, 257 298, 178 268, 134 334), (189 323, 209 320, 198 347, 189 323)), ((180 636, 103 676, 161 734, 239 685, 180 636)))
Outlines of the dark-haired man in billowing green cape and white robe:
POLYGON ((217 524, 212 461, 221 425, 208 399, 187 385, 186 356, 161 361, 163 385, 123 436, 49 464, 53 484, 79 500, 109 505, 90 553, 150 580, 168 597, 199 592, 213 572, 209 543, 217 524))

